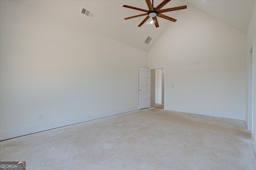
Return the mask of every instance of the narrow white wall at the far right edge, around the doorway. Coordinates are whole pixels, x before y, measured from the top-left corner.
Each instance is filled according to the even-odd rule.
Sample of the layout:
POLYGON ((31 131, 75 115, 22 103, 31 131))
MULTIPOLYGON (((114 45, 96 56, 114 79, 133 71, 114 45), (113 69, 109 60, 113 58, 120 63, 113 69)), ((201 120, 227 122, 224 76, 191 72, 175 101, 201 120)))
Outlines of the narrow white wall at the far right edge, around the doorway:
MULTIPOLYGON (((250 20, 250 24, 249 24, 249 27, 248 27, 248 30, 247 30, 247 48, 246 48, 246 54, 247 54, 247 68, 250 67, 250 63, 249 63, 249 57, 250 57, 250 49, 253 47, 254 49, 254 55, 252 56, 253 58, 253 64, 254 64, 254 82, 253 82, 253 88, 254 88, 254 92, 253 92, 253 115, 252 115, 252 120, 253 120, 253 123, 252 123, 252 133, 251 133, 251 139, 252 139, 252 144, 253 144, 253 147, 254 147, 254 151, 256 152, 256 56, 255 56, 255 38, 256 38, 256 3, 254 3, 254 9, 253 9, 253 12, 252 12, 252 17, 251 17, 251 20, 250 20)), ((249 70, 247 70, 247 87, 248 87, 248 82, 249 82, 249 70)), ((247 92, 246 94, 248 94, 248 88, 247 88, 247 92)), ((247 100, 246 100, 246 103, 248 106, 248 95, 247 95, 247 100)), ((247 119, 247 113, 248 112, 248 109, 246 111, 246 119, 247 119)))

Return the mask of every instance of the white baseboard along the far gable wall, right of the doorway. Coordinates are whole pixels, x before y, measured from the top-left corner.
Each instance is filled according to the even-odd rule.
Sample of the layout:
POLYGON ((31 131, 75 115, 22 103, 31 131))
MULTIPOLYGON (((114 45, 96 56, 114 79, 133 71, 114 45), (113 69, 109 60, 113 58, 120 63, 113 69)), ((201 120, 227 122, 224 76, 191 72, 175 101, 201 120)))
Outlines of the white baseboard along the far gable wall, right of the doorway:
POLYGON ((236 120, 245 120, 245 115, 235 115, 230 113, 222 113, 217 111, 206 111, 206 110, 197 110, 197 109, 188 109, 188 108, 182 108, 182 107, 164 107, 165 110, 170 111, 178 111, 178 112, 184 112, 184 113, 192 113, 192 114, 198 114, 198 115, 206 115, 206 116, 213 116, 213 117, 222 117, 222 118, 228 118, 228 119, 236 119, 236 120))

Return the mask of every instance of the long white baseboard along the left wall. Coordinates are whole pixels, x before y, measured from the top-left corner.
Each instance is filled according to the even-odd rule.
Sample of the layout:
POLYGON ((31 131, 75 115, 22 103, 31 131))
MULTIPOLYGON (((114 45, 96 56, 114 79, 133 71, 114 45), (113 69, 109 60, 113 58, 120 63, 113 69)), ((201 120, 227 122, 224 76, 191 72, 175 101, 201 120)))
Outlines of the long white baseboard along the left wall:
POLYGON ((138 106, 134 106, 134 107, 124 108, 124 109, 111 110, 111 111, 107 111, 104 113, 85 115, 85 116, 81 116, 81 117, 72 117, 69 119, 62 119, 62 120, 57 120, 57 121, 41 123, 41 124, 37 124, 37 125, 31 125, 31 126, 26 126, 26 127, 19 127, 19 128, 15 128, 15 129, 0 131, 0 141, 6 140, 6 139, 11 139, 14 137, 20 137, 23 135, 29 135, 31 133, 37 133, 37 132, 41 132, 41 131, 58 128, 58 127, 73 125, 76 123, 82 123, 85 121, 90 121, 90 120, 94 120, 94 119, 117 115, 120 113, 126 113, 129 111, 134 111, 134 110, 138 110, 138 109, 139 109, 138 106))

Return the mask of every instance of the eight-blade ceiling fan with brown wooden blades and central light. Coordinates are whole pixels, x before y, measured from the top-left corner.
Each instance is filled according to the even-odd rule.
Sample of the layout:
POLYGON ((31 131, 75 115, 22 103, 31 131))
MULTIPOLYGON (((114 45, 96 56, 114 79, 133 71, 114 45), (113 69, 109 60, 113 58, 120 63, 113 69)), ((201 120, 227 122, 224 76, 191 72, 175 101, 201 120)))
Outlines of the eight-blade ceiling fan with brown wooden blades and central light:
POLYGON ((134 10, 139 10, 139 11, 143 11, 143 12, 146 12, 145 14, 140 14, 140 15, 136 15, 136 16, 131 16, 131 17, 128 17, 128 18, 124 18, 124 20, 128 20, 128 19, 131 19, 131 18, 136 18, 136 17, 140 17, 140 16, 146 16, 146 18, 140 23, 140 25, 138 25, 138 27, 140 27, 141 25, 143 25, 143 23, 145 23, 150 17, 153 19, 156 27, 159 27, 158 25, 158 21, 157 21, 157 16, 160 17, 160 18, 164 18, 166 20, 170 20, 170 21, 177 21, 175 20, 174 18, 171 18, 171 17, 168 17, 166 15, 163 15, 162 13, 164 12, 170 12, 170 11, 176 11, 176 10, 182 10, 182 9, 186 9, 187 6, 178 6, 178 7, 174 7, 174 8, 167 8, 167 9, 163 9, 161 10, 161 8, 163 8, 168 2, 170 2, 171 0, 164 0, 162 3, 160 3, 156 8, 154 8, 154 0, 152 0, 152 4, 150 2, 150 0, 145 0, 146 1, 146 4, 148 5, 148 10, 144 10, 144 9, 141 9, 141 8, 136 8, 136 7, 133 7, 133 6, 128 6, 128 5, 124 5, 123 7, 125 8, 131 8, 131 9, 134 9, 134 10))

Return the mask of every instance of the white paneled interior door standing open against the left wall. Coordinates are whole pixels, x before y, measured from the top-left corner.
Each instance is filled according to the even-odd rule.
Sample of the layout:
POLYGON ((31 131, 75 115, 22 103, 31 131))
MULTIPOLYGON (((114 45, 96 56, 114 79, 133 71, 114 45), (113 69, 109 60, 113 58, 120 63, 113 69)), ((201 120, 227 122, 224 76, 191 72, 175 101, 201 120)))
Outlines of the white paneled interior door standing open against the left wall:
POLYGON ((149 68, 140 68, 139 109, 150 107, 150 72, 149 68))

